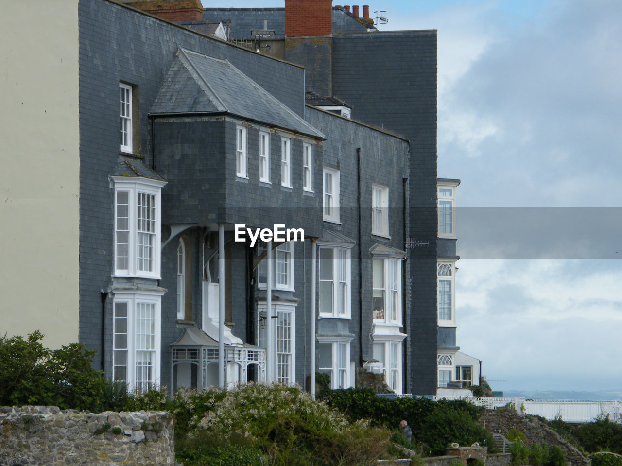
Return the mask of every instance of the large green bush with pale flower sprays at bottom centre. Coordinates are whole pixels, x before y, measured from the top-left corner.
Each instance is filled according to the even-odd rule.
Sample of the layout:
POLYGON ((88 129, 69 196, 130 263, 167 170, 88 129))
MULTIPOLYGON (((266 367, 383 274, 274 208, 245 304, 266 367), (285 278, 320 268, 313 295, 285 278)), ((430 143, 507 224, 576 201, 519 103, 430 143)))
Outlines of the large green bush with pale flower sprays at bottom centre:
POLYGON ((176 419, 185 424, 178 442, 184 464, 210 442, 252 447, 275 466, 366 465, 388 452, 388 431, 366 422, 350 424, 295 387, 248 384, 228 391, 185 391, 175 396, 175 404, 176 419))

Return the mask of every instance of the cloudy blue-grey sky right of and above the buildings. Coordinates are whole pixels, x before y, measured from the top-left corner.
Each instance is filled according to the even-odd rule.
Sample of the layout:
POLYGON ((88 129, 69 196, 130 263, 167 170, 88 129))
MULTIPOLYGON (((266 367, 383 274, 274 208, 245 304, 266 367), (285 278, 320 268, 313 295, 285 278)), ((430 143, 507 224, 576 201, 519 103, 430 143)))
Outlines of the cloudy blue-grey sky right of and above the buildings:
POLYGON ((622 2, 364 3, 439 31, 458 345, 494 389, 622 388, 622 2))

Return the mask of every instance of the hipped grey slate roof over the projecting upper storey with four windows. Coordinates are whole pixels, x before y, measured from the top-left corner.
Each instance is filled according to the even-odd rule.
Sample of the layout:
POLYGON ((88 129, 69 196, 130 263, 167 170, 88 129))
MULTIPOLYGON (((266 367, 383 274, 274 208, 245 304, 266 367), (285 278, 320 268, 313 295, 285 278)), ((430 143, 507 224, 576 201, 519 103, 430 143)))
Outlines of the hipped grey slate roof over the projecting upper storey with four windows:
POLYGON ((228 60, 179 48, 150 114, 231 114, 324 138, 228 60))

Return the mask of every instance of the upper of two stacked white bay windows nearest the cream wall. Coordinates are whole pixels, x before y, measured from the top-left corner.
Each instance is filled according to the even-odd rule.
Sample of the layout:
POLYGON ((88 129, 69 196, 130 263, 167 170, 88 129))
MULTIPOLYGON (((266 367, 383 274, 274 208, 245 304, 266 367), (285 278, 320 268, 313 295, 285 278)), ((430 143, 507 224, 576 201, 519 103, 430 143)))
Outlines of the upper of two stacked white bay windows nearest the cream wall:
MULTIPOLYGON (((139 177, 111 177, 114 184, 114 276, 119 277, 146 277, 146 278, 160 278, 160 217, 161 217, 161 191, 162 187, 166 184, 164 181, 151 180, 147 178, 139 177), (128 193, 127 215, 125 217, 121 210, 121 206, 125 204, 119 203, 119 193, 128 193), (153 207, 148 208, 148 211, 153 214, 154 218, 139 219, 141 210, 139 209, 139 195, 146 195, 153 197, 153 207), (127 220, 124 220, 127 219, 127 220), (126 223, 127 222, 127 223, 126 223), (152 231, 139 231, 141 226, 149 225, 149 230, 152 231), (148 235, 148 236, 145 236, 148 235), (123 236, 127 236, 126 240, 123 240, 123 236), (144 270, 139 267, 138 257, 141 247, 139 245, 141 238, 149 237, 152 240, 151 246, 147 246, 147 250, 152 253, 151 258, 143 258, 142 260, 148 260, 152 263, 151 270, 144 270), (127 241, 127 243, 125 242, 127 241), (127 245, 128 249, 128 264, 127 268, 119 267, 119 258, 125 256, 119 256, 121 250, 119 246, 127 245)), ((146 212, 142 210, 142 212, 146 212)))

